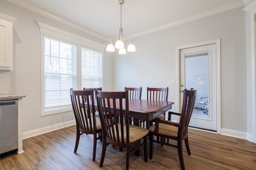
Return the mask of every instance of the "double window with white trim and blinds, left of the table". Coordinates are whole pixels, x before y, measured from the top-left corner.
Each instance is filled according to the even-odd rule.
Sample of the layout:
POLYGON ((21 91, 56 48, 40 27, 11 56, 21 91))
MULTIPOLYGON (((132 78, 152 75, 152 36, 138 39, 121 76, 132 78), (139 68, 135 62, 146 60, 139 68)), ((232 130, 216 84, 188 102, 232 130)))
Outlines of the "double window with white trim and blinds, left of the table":
POLYGON ((70 88, 102 87, 105 45, 37 23, 42 49, 41 116, 72 111, 70 88))

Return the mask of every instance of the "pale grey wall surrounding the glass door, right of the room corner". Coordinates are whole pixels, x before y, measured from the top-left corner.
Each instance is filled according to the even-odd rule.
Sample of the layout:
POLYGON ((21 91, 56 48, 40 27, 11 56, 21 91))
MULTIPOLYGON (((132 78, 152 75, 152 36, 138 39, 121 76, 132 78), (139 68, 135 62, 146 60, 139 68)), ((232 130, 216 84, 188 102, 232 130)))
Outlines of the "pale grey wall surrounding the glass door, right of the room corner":
MULTIPOLYGON (((168 100, 177 103, 176 47, 220 39, 221 127, 247 132, 245 12, 236 8, 162 31, 134 38, 135 53, 115 57, 115 88, 169 87, 168 100)), ((174 111, 177 109, 173 106, 174 111)))

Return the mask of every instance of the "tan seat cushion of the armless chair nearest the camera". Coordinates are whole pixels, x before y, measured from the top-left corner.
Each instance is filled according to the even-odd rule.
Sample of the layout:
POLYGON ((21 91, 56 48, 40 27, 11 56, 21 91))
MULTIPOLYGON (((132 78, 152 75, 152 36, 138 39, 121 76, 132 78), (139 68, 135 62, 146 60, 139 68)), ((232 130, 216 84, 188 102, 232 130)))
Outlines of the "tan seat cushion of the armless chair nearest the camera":
MULTIPOLYGON (((114 127, 114 131, 116 131, 116 125, 114 125, 113 127, 114 127)), ((120 141, 121 141, 121 125, 120 125, 120 123, 118 123, 118 129, 119 129, 119 137, 120 137, 120 141)), ((130 133, 129 133, 129 135, 130 135, 129 142, 130 143, 135 142, 148 134, 148 129, 143 128, 143 127, 129 125, 129 129, 130 129, 130 133)), ((124 123, 124 143, 126 143, 126 123, 124 123)))

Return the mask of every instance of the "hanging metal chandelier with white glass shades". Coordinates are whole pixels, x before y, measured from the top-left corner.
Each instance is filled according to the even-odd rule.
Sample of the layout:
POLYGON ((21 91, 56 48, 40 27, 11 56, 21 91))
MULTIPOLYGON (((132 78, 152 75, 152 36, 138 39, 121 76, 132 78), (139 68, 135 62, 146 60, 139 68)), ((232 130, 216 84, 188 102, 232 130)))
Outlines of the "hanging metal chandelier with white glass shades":
POLYGON ((123 35, 123 29, 122 29, 122 4, 124 4, 124 0, 118 0, 118 4, 120 4, 121 6, 121 12, 120 12, 120 18, 121 18, 121 22, 120 22, 120 26, 121 28, 119 29, 119 35, 116 38, 110 38, 109 39, 109 44, 106 48, 106 51, 108 52, 114 52, 115 48, 119 49, 118 54, 126 54, 126 49, 124 48, 124 41, 126 40, 130 40, 130 44, 127 47, 127 51, 128 52, 134 52, 136 51, 136 48, 134 46, 133 39, 132 38, 126 38, 123 35), (112 44, 113 41, 116 41, 115 46, 112 44))

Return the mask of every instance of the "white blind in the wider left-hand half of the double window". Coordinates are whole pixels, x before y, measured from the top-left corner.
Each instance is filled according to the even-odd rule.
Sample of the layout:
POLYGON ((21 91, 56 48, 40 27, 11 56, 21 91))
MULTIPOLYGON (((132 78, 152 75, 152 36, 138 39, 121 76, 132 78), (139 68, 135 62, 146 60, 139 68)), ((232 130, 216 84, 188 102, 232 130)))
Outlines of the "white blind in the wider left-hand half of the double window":
POLYGON ((44 111, 70 107, 76 89, 76 46, 44 37, 44 111))

